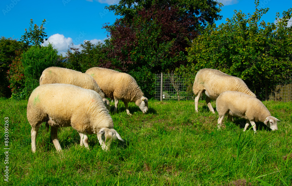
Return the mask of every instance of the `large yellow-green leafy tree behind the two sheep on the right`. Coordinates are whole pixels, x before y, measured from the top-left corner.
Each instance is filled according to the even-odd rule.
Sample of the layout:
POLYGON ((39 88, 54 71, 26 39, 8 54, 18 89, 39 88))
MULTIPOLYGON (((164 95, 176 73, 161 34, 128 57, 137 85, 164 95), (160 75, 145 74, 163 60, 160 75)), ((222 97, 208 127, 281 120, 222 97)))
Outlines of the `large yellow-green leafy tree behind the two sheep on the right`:
MULTIPOLYGON (((278 80, 282 73, 291 71, 291 61, 287 59, 292 51, 292 29, 287 28, 292 8, 283 12, 277 23, 260 22, 268 8, 258 9, 246 16, 234 11, 227 23, 208 25, 204 33, 192 42, 187 49, 188 61, 195 63, 193 68, 212 68, 243 79, 250 89, 265 87, 265 84, 278 80)), ((267 99, 266 92, 258 98, 267 99)), ((264 88, 263 88, 264 89, 264 88)))

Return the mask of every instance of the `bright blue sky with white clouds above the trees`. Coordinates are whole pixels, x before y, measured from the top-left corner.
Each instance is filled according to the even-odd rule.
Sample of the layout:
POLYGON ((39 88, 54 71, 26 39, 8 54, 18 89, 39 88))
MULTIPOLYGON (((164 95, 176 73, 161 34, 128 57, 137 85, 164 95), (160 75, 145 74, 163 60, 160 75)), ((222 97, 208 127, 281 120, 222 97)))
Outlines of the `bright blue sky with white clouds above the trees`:
MULTIPOLYGON (((218 0, 224 7, 220 15, 223 19, 216 22, 224 23, 232 18, 233 10, 253 13, 254 0, 218 0)), ((113 24, 117 16, 105 9, 105 6, 118 3, 118 0, 1 0, 0 1, 0 36, 20 39, 29 28, 30 19, 38 26, 46 19, 45 32, 47 38, 65 55, 71 43, 79 47, 84 40, 97 43, 107 38, 105 23, 113 24)), ((276 12, 282 13, 292 7, 291 0, 260 0, 260 7, 270 8, 263 16, 265 22, 274 22, 276 12)))

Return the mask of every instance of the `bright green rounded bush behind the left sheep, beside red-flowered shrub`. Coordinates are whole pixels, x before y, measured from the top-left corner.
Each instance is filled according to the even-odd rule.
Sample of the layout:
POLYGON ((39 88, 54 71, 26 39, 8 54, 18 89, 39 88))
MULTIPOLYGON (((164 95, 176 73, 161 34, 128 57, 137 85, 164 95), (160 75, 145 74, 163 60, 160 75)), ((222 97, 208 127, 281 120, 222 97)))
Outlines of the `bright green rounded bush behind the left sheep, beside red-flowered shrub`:
POLYGON ((44 69, 57 66, 57 53, 57 50, 53 49, 50 43, 46 47, 34 45, 23 53, 22 65, 24 67, 25 94, 27 97, 39 85, 39 78, 44 69))

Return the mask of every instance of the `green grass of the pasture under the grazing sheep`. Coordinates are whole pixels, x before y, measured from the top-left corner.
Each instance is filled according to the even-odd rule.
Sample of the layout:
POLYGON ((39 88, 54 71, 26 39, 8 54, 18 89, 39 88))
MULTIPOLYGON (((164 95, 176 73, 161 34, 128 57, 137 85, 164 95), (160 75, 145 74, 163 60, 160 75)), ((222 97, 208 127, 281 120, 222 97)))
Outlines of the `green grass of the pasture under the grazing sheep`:
POLYGON ((292 159, 282 159, 292 150, 292 104, 263 103, 281 120, 279 130, 257 123, 254 135, 252 128, 243 132, 239 118, 226 122, 225 117, 226 128, 218 131, 218 114, 204 101, 199 113, 193 101, 150 100, 147 114, 130 103, 133 116, 120 102, 112 118, 126 145, 114 143, 104 152, 91 135, 87 150, 68 127, 58 132, 63 149, 58 153, 43 124, 33 154, 27 101, 0 99, 0 185, 231 185, 241 180, 242 185, 292 185, 292 159), (4 117, 9 117, 9 182, 4 181, 4 117))

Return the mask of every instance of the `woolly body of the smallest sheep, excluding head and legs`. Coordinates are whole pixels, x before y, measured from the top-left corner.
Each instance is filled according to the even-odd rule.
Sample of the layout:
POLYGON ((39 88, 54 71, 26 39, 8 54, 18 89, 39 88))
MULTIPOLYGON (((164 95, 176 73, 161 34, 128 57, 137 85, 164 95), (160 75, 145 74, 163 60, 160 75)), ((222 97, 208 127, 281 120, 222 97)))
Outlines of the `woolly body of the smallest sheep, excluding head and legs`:
POLYGON ((216 100, 216 110, 219 116, 229 111, 232 116, 255 122, 264 122, 271 116, 270 111, 260 100, 237 91, 221 93, 216 100))

